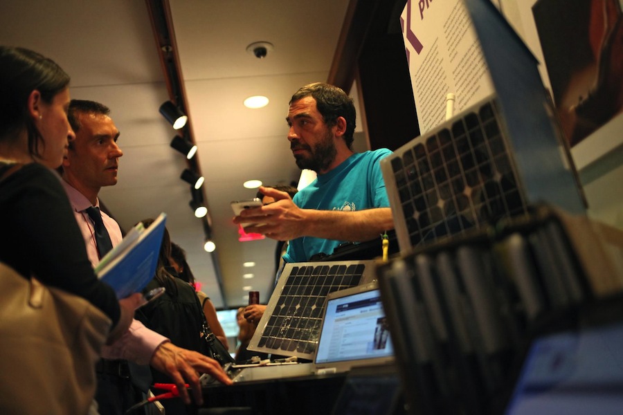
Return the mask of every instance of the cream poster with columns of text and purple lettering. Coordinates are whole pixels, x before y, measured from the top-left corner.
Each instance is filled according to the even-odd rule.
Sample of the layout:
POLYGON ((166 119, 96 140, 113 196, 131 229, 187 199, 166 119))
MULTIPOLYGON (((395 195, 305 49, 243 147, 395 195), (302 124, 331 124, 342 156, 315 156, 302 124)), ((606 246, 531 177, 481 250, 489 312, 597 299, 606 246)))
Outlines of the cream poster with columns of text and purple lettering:
POLYGON ((494 92, 485 58, 462 0, 408 0, 400 17, 419 129, 444 122, 494 92))

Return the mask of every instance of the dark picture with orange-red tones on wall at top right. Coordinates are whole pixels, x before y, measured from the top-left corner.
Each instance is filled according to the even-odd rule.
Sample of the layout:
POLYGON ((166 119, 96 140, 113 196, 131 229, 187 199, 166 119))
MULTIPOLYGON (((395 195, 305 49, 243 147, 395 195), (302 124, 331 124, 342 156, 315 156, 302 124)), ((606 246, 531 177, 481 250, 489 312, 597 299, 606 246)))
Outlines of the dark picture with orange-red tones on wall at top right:
POLYGON ((623 112, 621 1, 537 0, 532 14, 572 147, 623 112))

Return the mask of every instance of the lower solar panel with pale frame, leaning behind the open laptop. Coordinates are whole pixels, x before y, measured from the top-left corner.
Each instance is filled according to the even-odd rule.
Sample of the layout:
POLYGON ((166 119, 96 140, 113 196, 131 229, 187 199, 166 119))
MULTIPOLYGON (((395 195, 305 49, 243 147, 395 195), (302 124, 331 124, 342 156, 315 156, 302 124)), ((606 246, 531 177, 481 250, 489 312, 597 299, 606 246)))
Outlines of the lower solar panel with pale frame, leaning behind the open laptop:
POLYGON ((311 360, 329 293, 374 279, 374 261, 286 264, 249 350, 311 360))

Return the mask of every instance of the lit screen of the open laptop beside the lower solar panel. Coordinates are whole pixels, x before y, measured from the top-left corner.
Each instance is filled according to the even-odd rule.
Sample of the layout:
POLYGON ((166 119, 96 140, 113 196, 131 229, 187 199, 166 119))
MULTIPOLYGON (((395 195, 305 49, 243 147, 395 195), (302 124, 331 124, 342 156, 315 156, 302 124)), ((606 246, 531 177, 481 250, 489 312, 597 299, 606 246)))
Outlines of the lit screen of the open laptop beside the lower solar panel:
POLYGON ((329 294, 320 331, 316 366, 350 362, 349 367, 391 361, 394 355, 381 293, 376 283, 329 294), (366 362, 352 362, 366 360, 366 362))

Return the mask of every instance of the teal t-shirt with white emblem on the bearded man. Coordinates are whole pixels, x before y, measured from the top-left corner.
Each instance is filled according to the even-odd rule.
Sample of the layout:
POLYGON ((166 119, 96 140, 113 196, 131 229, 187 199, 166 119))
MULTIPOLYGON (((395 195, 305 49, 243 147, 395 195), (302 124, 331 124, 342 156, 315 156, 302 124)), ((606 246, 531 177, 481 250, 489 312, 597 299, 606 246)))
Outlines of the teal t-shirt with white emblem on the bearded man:
MULTIPOLYGON (((316 210, 365 210, 388 208, 379 160, 389 156, 389 149, 353 154, 327 174, 318 175, 315 181, 294 195, 299 208, 316 210)), ((306 262, 323 252, 331 255, 343 242, 314 237, 293 239, 283 256, 286 262, 306 262)))

